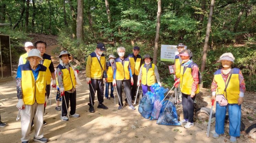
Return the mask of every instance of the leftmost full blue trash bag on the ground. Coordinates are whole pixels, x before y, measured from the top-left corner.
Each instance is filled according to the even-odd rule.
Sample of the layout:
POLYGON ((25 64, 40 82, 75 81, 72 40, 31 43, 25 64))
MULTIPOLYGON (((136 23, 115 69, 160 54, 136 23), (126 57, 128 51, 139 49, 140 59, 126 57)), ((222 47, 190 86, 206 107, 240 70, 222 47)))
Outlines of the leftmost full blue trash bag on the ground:
POLYGON ((152 110, 154 107, 154 93, 151 91, 148 91, 144 96, 142 96, 138 112, 141 113, 141 115, 148 119, 151 116, 152 110))

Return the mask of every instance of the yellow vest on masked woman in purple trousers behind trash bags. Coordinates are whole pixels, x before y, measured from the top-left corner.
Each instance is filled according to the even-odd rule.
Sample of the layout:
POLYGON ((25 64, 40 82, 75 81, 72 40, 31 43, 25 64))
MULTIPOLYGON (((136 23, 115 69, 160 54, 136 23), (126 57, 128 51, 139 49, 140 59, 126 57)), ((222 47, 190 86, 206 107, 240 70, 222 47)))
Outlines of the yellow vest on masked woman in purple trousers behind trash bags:
POLYGON ((155 83, 155 64, 151 64, 148 71, 146 64, 142 64, 141 83, 147 86, 152 86, 155 83))

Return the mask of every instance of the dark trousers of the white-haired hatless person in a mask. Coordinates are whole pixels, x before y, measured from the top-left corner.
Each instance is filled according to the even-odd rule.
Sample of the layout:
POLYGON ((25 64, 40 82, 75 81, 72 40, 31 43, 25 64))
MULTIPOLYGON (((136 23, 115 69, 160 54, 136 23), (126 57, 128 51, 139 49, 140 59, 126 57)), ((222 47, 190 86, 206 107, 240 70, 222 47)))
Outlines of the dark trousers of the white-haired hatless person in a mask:
POLYGON ((126 94, 126 99, 127 102, 129 104, 129 106, 132 105, 132 97, 131 97, 131 88, 130 88, 130 80, 116 80, 116 88, 118 91, 118 95, 119 95, 119 99, 121 101, 118 100, 118 104, 123 106, 123 99, 122 99, 122 83, 124 84, 124 90, 125 90, 125 94, 126 94))

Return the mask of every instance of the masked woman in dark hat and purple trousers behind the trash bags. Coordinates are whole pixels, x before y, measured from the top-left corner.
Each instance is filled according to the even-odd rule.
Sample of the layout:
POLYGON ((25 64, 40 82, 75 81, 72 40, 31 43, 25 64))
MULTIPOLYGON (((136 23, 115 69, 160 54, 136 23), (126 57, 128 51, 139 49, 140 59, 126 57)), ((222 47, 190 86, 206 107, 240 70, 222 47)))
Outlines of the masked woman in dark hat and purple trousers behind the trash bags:
POLYGON ((151 63, 152 60, 153 58, 150 57, 149 54, 145 54, 143 59, 145 64, 142 64, 140 68, 137 86, 140 86, 140 80, 141 80, 143 95, 147 93, 148 88, 151 90, 151 92, 154 93, 154 89, 152 88, 152 85, 155 84, 155 77, 159 86, 162 86, 157 67, 155 64, 151 63))

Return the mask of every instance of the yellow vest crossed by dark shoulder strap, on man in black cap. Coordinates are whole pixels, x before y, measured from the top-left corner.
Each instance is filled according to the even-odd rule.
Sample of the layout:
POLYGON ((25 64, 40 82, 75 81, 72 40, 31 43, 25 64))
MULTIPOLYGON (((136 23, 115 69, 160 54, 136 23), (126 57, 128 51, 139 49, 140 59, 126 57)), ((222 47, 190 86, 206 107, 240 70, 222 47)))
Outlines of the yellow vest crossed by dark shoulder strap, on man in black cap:
POLYGON ((100 63, 98 61, 98 57, 95 52, 91 54, 92 62, 91 62, 91 78, 102 78, 104 66, 105 66, 105 55, 101 54, 100 56, 100 63, 103 68, 101 68, 100 63))

